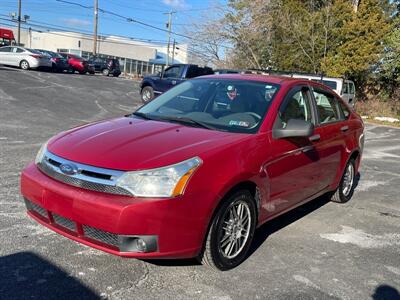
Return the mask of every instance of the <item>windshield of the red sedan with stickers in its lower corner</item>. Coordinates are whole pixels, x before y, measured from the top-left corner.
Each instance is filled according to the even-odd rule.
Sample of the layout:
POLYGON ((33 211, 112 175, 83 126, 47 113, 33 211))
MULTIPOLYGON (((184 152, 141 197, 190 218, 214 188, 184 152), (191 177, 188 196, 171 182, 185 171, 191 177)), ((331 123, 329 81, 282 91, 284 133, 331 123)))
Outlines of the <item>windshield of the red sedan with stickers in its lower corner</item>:
POLYGON ((278 85, 266 82, 194 79, 162 94, 134 114, 188 126, 255 133, 278 89, 278 85))

